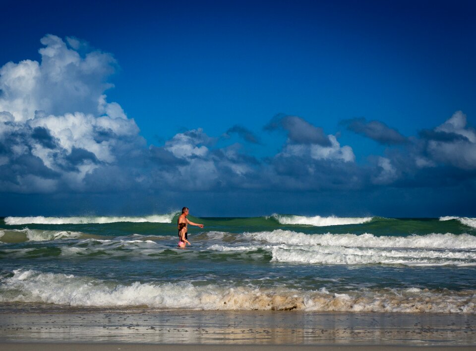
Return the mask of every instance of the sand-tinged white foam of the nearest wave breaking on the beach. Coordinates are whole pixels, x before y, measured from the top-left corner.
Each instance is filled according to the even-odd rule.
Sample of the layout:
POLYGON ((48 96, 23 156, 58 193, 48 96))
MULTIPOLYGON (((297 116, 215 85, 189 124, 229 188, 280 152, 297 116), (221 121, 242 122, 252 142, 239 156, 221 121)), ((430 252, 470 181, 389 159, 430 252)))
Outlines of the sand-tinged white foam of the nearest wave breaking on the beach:
POLYGON ((194 286, 191 283, 120 285, 91 277, 15 270, 0 281, 1 302, 72 306, 139 306, 204 310, 296 309, 346 312, 475 313, 476 291, 418 288, 357 291, 295 290, 283 287, 194 286))

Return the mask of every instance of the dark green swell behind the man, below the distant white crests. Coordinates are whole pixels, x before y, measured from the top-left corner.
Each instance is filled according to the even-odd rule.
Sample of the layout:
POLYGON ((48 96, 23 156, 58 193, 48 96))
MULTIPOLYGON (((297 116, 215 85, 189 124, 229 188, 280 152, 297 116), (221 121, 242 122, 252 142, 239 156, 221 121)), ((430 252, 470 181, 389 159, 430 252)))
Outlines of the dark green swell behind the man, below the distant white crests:
MULTIPOLYGON (((331 226, 313 226, 307 224, 281 224, 278 221, 279 216, 292 215, 274 215, 269 217, 189 217, 190 221, 201 223, 205 226, 200 229, 189 226, 189 235, 197 235, 205 232, 225 232, 225 233, 244 233, 244 232, 265 232, 276 229, 290 230, 305 234, 364 234, 371 233, 380 235, 424 235, 432 233, 452 233, 452 234, 476 234, 476 228, 467 226, 457 219, 440 221, 438 218, 384 218, 373 217, 370 221, 361 224, 345 224, 331 226)), ((301 216, 302 217, 302 216, 301 216)), ((131 223, 118 222, 107 224, 29 224, 8 226, 3 219, 0 220, 0 228, 6 230, 24 230, 25 228, 43 231, 69 231, 80 232, 84 235, 104 236, 122 236, 122 235, 148 235, 164 236, 177 235, 177 216, 172 223, 131 223)), ((1 229, 0 229, 1 231, 1 229)), ((5 235, 3 235, 5 236, 5 235)), ((11 240, 14 240, 11 238, 11 240)), ((3 241, 0 233, 0 241, 3 241)), ((14 241, 8 241, 14 242, 14 241)))

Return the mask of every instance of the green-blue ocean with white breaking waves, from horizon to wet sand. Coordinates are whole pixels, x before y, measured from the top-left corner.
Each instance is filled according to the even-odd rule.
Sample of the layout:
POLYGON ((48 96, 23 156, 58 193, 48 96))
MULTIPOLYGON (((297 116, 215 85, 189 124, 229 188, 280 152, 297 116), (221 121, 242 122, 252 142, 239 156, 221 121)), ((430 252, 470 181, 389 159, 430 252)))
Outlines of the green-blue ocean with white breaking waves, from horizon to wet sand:
POLYGON ((2 309, 476 312, 475 218, 178 215, 1 218, 2 309))

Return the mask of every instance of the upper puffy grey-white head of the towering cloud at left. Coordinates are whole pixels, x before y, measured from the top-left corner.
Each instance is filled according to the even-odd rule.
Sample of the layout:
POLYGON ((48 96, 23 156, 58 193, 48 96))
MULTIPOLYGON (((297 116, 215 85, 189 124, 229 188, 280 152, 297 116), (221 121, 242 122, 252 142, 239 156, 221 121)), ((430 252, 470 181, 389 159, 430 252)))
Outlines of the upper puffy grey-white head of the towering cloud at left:
POLYGON ((8 62, 0 69, 0 111, 25 121, 35 111, 52 115, 83 112, 96 115, 108 77, 116 69, 111 54, 92 51, 81 56, 55 35, 41 39, 41 62, 8 62))

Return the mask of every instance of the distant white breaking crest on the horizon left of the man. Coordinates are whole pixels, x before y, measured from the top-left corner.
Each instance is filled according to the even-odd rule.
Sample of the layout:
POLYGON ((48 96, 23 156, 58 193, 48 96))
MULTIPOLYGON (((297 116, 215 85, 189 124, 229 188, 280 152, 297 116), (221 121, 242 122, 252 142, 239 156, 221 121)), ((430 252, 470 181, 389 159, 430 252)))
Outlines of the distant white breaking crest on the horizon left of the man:
POLYGON ((22 224, 90 224, 90 223, 116 223, 116 222, 133 222, 133 223, 172 223, 172 219, 177 213, 169 213, 165 215, 150 215, 144 217, 6 217, 5 223, 9 226, 22 224))

